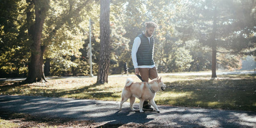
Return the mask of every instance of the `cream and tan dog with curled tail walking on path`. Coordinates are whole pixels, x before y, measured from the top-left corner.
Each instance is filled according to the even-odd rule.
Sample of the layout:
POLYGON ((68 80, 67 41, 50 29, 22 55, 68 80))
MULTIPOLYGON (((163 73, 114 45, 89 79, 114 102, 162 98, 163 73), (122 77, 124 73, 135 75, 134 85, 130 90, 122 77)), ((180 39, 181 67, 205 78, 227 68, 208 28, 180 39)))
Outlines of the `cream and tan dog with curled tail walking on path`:
POLYGON ((156 105, 154 98, 156 93, 161 89, 165 90, 166 85, 161 81, 161 78, 155 78, 149 82, 134 82, 131 78, 127 78, 126 84, 122 90, 122 100, 119 105, 119 111, 121 111, 122 104, 130 98, 130 108, 132 111, 135 111, 133 104, 135 101, 135 97, 140 100, 139 103, 139 111, 142 113, 143 102, 148 100, 150 105, 152 105, 157 112, 158 106, 156 105))

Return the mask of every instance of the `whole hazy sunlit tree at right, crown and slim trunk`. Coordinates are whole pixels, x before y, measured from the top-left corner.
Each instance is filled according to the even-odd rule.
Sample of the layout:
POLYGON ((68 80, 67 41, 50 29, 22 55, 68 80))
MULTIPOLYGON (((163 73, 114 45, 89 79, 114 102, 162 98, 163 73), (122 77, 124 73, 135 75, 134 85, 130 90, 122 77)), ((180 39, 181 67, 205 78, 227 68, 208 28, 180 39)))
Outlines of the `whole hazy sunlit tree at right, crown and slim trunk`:
POLYGON ((192 0, 180 10, 183 31, 192 30, 190 40, 211 48, 212 78, 217 77, 218 53, 238 55, 255 47, 253 8, 252 0, 192 0))

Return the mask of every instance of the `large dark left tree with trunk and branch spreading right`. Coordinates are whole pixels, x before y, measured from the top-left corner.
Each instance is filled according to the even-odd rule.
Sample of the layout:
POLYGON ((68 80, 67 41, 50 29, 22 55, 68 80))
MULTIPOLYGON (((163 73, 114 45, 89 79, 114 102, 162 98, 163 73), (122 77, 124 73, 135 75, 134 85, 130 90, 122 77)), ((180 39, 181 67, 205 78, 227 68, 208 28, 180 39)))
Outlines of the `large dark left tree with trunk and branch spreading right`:
MULTIPOLYGON (((49 0, 26 0, 28 3, 27 8, 27 24, 28 24, 28 34, 31 36, 31 44, 29 46, 31 49, 31 59, 29 64, 29 74, 25 82, 34 82, 34 81, 41 81, 42 79, 45 80, 44 72, 43 72, 43 55, 48 48, 49 45, 51 45, 60 29, 65 25, 76 24, 77 22, 81 22, 82 20, 79 20, 79 17, 77 14, 80 14, 80 12, 84 11, 84 7, 87 5, 89 0, 85 0, 83 2, 80 2, 79 4, 75 3, 75 0, 68 0, 67 1, 56 1, 58 2, 60 6, 64 6, 67 8, 67 10, 61 10, 61 12, 56 11, 58 14, 57 17, 54 17, 55 21, 51 21, 51 24, 47 24, 48 31, 46 32, 46 36, 42 38, 42 32, 43 32, 43 25, 45 23, 45 19, 51 13, 47 13, 50 6, 49 6, 49 0), (62 3, 64 2, 64 3, 62 3), (68 4, 67 4, 68 3, 68 4), (67 6, 69 5, 69 6, 67 6), (34 18, 35 14, 35 18, 34 18), (35 19, 35 22, 34 22, 35 19), (73 20, 76 19, 76 20, 73 20), (78 19, 78 20, 77 20, 78 19), (74 23, 75 22, 75 23, 74 23), (43 40, 43 41, 42 41, 43 40)), ((51 1, 55 2, 55 1, 51 1)), ((52 9, 52 8, 51 8, 52 9)), ((53 14, 52 14, 53 15, 53 14)), ((67 30, 66 30, 67 31, 67 30)), ((54 42, 56 43, 56 42, 54 42)), ((62 43, 62 42, 61 42, 62 43)), ((56 43, 57 44, 57 43, 56 43)), ((77 49, 78 51, 78 49, 77 49)), ((72 52, 72 51, 71 51, 72 52)), ((46 80, 45 80, 46 81, 46 80)))

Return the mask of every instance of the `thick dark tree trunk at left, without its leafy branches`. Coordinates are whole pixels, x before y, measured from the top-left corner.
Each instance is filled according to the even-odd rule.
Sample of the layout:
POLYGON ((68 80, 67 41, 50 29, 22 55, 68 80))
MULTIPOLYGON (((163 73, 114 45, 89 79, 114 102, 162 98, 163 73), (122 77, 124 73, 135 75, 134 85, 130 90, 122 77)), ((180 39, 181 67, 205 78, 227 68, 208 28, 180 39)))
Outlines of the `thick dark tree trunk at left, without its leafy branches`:
MULTIPOLYGON (((46 50, 46 46, 41 46, 41 38, 43 24, 46 17, 47 8, 49 6, 49 0, 31 0, 30 4, 32 2, 35 5, 36 18, 35 23, 31 23, 33 25, 31 25, 28 29, 28 33, 31 36, 33 42, 30 46, 31 59, 28 67, 28 77, 26 78, 25 82, 42 81, 42 79, 46 81, 43 71, 43 54, 46 50)), ((27 21, 31 21, 32 15, 28 15, 27 18, 27 21)))

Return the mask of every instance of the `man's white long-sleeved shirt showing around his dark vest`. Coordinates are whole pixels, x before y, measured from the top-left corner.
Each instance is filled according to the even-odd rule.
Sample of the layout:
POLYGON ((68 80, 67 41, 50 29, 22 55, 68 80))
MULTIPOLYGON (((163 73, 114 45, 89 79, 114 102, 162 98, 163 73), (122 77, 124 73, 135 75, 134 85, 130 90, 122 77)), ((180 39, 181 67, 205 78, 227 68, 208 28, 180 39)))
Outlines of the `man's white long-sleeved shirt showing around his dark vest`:
MULTIPOLYGON (((147 37, 147 38, 148 38, 148 40, 150 42, 150 37, 147 37)), ((134 44, 133 44, 133 48, 132 48, 132 59, 133 59, 134 69, 135 68, 150 68, 150 69, 154 68, 155 64, 153 64, 153 65, 140 65, 140 66, 138 66, 136 53, 138 51, 138 48, 140 47, 140 43, 141 43, 140 37, 137 36, 134 39, 134 44)), ((153 46, 153 54, 154 54, 154 46, 153 46)))

